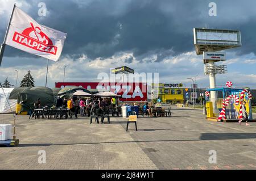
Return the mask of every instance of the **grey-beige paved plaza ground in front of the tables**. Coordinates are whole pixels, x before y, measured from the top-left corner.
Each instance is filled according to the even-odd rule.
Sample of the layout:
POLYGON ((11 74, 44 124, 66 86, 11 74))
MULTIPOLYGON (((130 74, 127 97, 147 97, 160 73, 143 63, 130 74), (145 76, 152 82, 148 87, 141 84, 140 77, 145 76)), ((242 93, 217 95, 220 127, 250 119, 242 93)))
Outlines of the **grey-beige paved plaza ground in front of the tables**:
MULTIPOLYGON (((0 169, 256 169, 256 123, 207 121, 201 110, 173 108, 172 117, 89 124, 89 119, 28 120, 17 116, 20 145, 0 147, 0 169), (39 164, 39 150, 46 163, 39 164), (210 164, 215 150, 217 163, 210 164)), ((0 115, 0 124, 12 123, 0 115)))

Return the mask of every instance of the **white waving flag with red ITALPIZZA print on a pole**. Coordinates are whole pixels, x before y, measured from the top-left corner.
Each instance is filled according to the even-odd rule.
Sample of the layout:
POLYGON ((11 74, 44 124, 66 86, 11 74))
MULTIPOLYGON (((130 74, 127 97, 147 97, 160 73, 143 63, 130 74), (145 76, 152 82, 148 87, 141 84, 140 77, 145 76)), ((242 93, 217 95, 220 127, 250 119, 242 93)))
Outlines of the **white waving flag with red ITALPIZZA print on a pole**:
POLYGON ((67 33, 38 24, 18 7, 14 8, 5 44, 57 61, 67 33))

